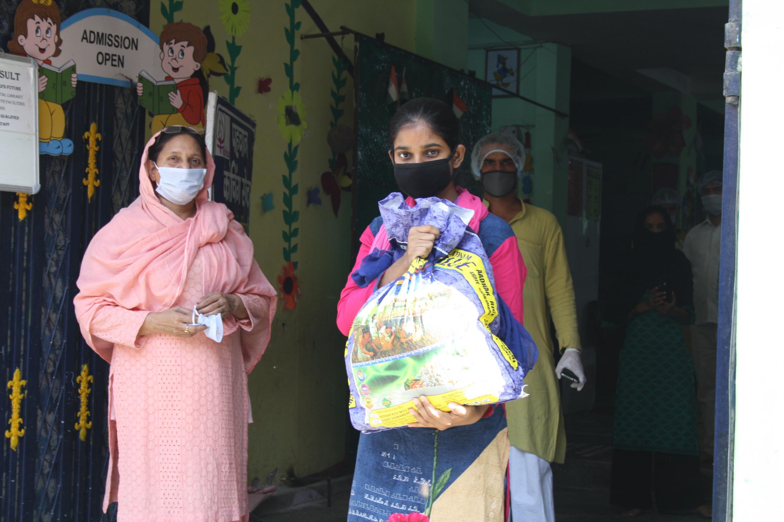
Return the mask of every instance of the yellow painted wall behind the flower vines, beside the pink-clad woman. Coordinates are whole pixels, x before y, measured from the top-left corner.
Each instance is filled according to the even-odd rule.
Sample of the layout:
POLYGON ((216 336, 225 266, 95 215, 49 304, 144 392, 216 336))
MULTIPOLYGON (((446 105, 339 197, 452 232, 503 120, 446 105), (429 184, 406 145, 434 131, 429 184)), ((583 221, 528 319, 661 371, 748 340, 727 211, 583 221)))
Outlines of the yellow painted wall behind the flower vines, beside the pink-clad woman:
MULTIPOLYGON (((151 2, 153 31, 161 31, 165 20, 159 0, 151 2)), ((168 5, 168 0, 165 0, 168 5)), ((281 232, 284 187, 281 175, 288 170, 283 159, 287 143, 278 130, 276 106, 289 87, 283 63, 289 61, 289 44, 284 27, 289 25, 283 0, 250 0, 250 25, 237 38, 242 45, 236 60, 236 85, 241 85, 236 106, 256 121, 253 151, 250 237, 256 260, 276 288, 285 264, 281 232), (256 83, 271 77, 271 92, 260 95, 256 83), (274 194, 275 210, 262 213, 261 196, 274 194)), ((345 25, 366 34, 383 32, 386 41, 413 51, 416 48, 416 0, 365 2, 363 0, 311 0, 311 5, 330 31, 345 25), (372 5, 371 5, 372 3, 372 5)), ((184 0, 175 20, 210 25, 216 52, 229 59, 227 30, 220 21, 218 0, 184 0)), ((343 367, 343 337, 335 326, 336 304, 346 281, 350 263, 351 194, 343 192, 339 217, 332 214, 329 196, 321 192, 321 206, 306 207, 307 188, 321 189, 321 173, 328 170, 332 157, 326 142, 332 119, 332 50, 323 38, 300 40, 300 34, 318 33, 318 28, 302 7, 296 10, 302 27, 296 33, 299 59, 294 77, 307 110, 307 132, 299 143, 298 168, 294 182, 294 210, 299 211, 299 261, 296 275, 302 295, 294 310, 279 304, 272 340, 260 365, 249 378, 253 418, 249 427, 249 478, 266 477, 275 467, 286 473, 293 466, 297 476, 325 470, 343 459, 347 415, 346 373, 343 367)), ((341 42, 341 37, 336 37, 341 42)), ((354 38, 342 41, 354 59, 354 38)), ((346 76, 348 76, 346 74, 346 76)), ((210 89, 227 96, 223 78, 213 77, 210 89)), ((349 77, 343 88, 346 102, 340 123, 353 126, 354 85, 349 77)), ((350 159, 349 153, 349 159, 350 159)))

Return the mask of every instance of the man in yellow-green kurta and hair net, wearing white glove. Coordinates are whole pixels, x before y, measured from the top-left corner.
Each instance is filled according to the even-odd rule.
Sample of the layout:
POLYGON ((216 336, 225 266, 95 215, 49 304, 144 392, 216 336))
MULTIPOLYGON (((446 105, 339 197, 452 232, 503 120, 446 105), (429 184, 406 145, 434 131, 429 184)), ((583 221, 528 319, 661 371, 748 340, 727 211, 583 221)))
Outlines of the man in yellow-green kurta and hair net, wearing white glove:
POLYGON ((563 463, 566 453, 557 380, 568 369, 579 379, 572 387, 582 390, 586 378, 580 361, 575 291, 564 235, 553 214, 523 203, 517 196, 524 157, 523 146, 514 136, 493 133, 474 146, 471 168, 484 186, 485 204, 493 214, 508 221, 517 236, 528 268, 522 289, 524 325, 539 347, 539 359, 525 377, 529 397, 506 403, 512 520, 554 522, 550 463, 563 463), (550 319, 562 354, 557 366, 550 319))

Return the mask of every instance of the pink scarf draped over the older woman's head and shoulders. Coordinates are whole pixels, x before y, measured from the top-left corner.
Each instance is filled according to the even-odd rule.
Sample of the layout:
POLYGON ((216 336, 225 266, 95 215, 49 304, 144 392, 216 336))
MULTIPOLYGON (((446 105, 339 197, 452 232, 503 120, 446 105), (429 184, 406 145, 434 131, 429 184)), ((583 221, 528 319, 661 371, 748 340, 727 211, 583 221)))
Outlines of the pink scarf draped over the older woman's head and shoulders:
MULTIPOLYGON (((163 311, 176 303, 183 292, 188 270, 201 250, 204 266, 204 293, 255 294, 269 300, 269 317, 251 331, 241 331, 243 354, 249 372, 261 357, 270 339, 277 293, 253 258, 253 244, 234 214, 223 203, 208 200, 208 188, 215 175, 215 162, 206 152, 207 175, 204 188, 196 196, 196 214, 185 221, 164 207, 155 196, 147 174, 147 151, 139 169, 140 195, 100 229, 82 259, 82 271, 74 297, 76 319, 87 344, 111 362, 114 344, 94 337, 90 325, 104 305, 136 311, 163 311)), ((223 333, 238 328, 234 316, 223 319, 223 333)))

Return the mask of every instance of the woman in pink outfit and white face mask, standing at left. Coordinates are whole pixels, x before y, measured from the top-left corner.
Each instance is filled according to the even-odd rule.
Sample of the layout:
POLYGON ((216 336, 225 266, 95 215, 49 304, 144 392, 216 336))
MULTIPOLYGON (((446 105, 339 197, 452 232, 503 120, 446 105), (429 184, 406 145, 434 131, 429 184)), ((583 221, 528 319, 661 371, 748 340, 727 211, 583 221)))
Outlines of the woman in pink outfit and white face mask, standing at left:
POLYGON ((247 375, 276 293, 242 226, 208 200, 215 164, 172 127, 147 143, 140 196, 90 243, 74 299, 85 340, 111 363, 103 509, 119 522, 248 520, 247 375), (205 332, 194 307, 220 314, 205 332), (206 337, 211 337, 216 342, 206 337))

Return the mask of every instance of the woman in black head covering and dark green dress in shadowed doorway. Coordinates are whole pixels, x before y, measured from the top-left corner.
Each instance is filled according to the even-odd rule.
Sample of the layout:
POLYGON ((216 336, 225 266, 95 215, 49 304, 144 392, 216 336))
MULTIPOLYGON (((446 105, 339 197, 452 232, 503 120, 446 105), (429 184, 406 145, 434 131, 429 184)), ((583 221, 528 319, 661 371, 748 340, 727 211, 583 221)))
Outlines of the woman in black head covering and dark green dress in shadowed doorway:
POLYGON ((635 517, 651 509, 710 517, 699 485, 694 368, 682 326, 694 321, 691 265, 661 207, 634 224, 619 290, 626 319, 613 427, 610 502, 635 517))

